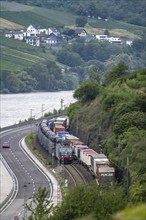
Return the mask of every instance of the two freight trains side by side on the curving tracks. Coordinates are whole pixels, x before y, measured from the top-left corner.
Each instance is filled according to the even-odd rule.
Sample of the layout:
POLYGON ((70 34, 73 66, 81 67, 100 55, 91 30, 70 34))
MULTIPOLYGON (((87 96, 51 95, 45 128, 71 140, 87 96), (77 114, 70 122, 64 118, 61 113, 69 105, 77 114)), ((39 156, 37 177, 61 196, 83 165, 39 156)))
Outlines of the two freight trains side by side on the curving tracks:
POLYGON ((98 184, 104 182, 111 185, 114 181, 115 169, 109 159, 70 134, 68 126, 67 116, 42 120, 38 126, 39 143, 60 163, 68 164, 78 160, 92 172, 98 184))

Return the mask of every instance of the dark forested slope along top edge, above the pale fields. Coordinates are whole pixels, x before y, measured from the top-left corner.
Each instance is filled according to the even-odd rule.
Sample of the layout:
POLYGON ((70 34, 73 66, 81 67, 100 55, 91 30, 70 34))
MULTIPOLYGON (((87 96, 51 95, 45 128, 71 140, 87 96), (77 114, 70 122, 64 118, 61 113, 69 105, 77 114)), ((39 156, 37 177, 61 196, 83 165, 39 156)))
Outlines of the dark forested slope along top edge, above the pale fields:
MULTIPOLYGON (((19 3, 39 6, 59 11, 71 12, 78 16, 90 18, 111 18, 112 20, 124 21, 126 23, 145 26, 145 0, 16 0, 19 3), (77 4, 78 2, 78 4, 77 4)), ((11 0, 10 0, 11 2, 11 0)))

